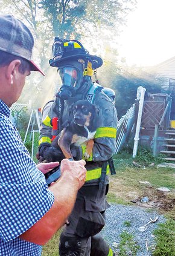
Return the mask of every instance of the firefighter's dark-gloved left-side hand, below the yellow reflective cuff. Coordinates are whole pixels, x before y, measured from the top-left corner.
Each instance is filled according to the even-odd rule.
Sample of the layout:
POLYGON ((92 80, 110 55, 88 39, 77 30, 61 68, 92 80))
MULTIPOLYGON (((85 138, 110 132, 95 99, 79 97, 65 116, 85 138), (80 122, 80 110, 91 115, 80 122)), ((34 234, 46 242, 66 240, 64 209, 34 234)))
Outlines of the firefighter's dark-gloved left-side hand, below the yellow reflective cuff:
POLYGON ((48 162, 57 162, 61 161, 65 158, 62 151, 60 151, 57 148, 54 148, 54 146, 42 146, 39 149, 40 156, 44 157, 48 162))

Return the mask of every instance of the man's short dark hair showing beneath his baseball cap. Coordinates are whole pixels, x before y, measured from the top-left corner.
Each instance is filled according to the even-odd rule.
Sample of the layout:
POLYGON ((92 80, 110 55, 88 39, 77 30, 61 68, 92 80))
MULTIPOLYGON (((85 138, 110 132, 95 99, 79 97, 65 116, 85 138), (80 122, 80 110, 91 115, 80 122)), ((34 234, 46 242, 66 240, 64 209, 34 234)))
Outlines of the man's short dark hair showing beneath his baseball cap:
POLYGON ((0 68, 9 65, 10 62, 14 61, 15 59, 19 59, 19 61, 21 61, 21 65, 19 66, 19 72, 21 74, 24 74, 25 71, 30 71, 30 63, 27 60, 0 50, 0 68))

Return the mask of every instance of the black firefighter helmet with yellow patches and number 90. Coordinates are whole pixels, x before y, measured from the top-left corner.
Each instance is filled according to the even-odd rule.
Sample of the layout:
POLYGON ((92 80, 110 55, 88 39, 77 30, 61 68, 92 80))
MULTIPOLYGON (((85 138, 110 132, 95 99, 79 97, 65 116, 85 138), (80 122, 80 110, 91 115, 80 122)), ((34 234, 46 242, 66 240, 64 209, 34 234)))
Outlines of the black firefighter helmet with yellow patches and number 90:
POLYGON ((59 67, 63 61, 68 59, 84 59, 89 60, 92 63, 92 69, 101 67, 103 61, 101 57, 91 55, 84 49, 83 45, 77 40, 67 41, 56 37, 54 44, 52 45, 53 59, 49 60, 49 64, 52 67, 59 67))

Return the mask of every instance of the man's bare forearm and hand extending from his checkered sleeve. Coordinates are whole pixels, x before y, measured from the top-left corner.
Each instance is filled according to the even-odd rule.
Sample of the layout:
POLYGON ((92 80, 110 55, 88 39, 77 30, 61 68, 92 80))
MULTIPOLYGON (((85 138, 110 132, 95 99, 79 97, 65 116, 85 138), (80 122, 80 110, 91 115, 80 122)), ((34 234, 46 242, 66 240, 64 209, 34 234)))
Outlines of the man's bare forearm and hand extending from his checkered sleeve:
POLYGON ((54 194, 54 203, 49 211, 28 231, 20 235, 21 239, 45 245, 59 228, 63 226, 74 207, 77 191, 86 179, 84 160, 62 160, 62 176, 49 190, 54 194))

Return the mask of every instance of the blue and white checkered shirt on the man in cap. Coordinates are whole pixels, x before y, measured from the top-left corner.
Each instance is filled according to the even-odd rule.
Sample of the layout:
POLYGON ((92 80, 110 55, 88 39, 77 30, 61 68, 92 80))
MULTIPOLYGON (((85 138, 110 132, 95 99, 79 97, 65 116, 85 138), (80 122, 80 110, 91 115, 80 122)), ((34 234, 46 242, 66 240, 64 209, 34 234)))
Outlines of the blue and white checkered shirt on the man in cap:
POLYGON ((19 235, 48 212, 54 195, 9 116, 9 108, 0 100, 0 255, 37 256, 42 246, 19 235))

